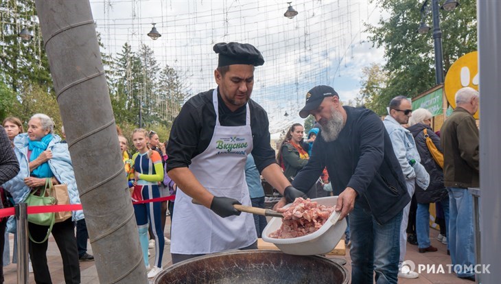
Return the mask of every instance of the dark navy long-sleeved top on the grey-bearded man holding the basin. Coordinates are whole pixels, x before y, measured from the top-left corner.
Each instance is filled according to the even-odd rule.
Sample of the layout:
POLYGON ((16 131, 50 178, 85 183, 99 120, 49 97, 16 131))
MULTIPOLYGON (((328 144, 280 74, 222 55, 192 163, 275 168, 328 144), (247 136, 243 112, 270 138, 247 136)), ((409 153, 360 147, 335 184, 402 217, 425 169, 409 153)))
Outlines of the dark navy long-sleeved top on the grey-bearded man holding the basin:
POLYGON ((384 224, 410 202, 404 174, 380 117, 364 108, 343 108, 347 121, 338 139, 326 142, 319 132, 312 156, 292 185, 307 191, 327 166, 334 193, 355 189, 355 206, 370 210, 384 224))

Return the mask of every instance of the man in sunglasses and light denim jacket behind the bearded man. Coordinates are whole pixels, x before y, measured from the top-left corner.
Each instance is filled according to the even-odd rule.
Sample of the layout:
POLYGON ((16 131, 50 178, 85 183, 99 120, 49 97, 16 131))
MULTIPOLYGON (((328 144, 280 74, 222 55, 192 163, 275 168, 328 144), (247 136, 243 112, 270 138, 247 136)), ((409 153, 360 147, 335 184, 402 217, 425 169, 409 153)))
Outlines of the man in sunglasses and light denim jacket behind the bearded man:
MULTIPOLYGON (((421 189, 425 190, 430 183, 430 175, 423 165, 421 165, 421 158, 419 157, 419 152, 417 152, 414 137, 412 137, 412 133, 409 130, 402 126, 409 122, 409 117, 412 115, 412 105, 406 97, 401 95, 391 100, 389 109, 389 115, 386 115, 384 118, 384 127, 388 131, 388 135, 390 135, 395 156, 397 156, 404 177, 406 178, 407 191, 409 196, 412 197, 416 182, 421 189)), ((419 277, 419 274, 415 271, 406 270, 404 272, 401 270, 406 255, 406 228, 409 220, 409 210, 410 203, 404 208, 402 224, 400 226, 400 271, 398 276, 412 279, 419 277)), ((429 246, 428 248, 423 248, 423 250, 436 251, 437 249, 429 246)))

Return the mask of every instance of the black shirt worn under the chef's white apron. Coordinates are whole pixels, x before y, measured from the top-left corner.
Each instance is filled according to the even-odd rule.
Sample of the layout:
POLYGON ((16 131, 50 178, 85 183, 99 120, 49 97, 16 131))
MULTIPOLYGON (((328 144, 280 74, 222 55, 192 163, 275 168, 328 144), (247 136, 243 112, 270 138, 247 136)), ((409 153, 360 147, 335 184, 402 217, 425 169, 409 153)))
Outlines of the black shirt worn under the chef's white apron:
MULTIPOLYGON (((211 142, 215 127, 215 111, 212 104, 213 90, 191 97, 174 120, 167 145, 167 171, 176 167, 188 167, 191 159, 204 152, 211 142)), ((248 100, 250 129, 253 134, 254 160, 261 172, 275 161, 275 150, 270 145, 268 115, 264 108, 252 99, 248 100)), ((244 126, 246 106, 232 112, 224 104, 218 91, 218 110, 221 126, 244 126)))

